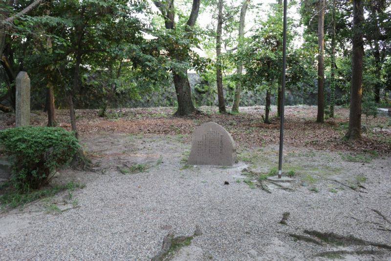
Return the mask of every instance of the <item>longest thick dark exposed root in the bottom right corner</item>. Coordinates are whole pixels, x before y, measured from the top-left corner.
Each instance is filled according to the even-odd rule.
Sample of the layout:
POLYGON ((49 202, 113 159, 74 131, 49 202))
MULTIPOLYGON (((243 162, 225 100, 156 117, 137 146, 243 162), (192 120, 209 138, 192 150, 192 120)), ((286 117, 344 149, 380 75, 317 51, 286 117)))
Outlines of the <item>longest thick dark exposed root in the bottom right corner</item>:
POLYGON ((349 236, 340 236, 336 235, 334 233, 321 233, 319 231, 309 231, 309 230, 304 230, 305 234, 311 235, 318 237, 319 239, 325 241, 326 243, 335 243, 335 244, 344 244, 344 245, 371 245, 371 246, 377 246, 385 249, 391 249, 391 246, 386 245, 386 244, 379 244, 376 242, 370 242, 366 241, 357 237, 349 236))

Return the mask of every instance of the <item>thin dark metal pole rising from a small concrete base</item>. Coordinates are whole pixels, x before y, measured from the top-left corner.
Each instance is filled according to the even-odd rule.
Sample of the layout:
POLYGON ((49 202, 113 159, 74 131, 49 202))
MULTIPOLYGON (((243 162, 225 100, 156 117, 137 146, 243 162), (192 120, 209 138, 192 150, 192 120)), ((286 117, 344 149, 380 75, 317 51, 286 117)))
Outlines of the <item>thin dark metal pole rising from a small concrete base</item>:
POLYGON ((282 104, 281 104, 281 123, 280 123, 280 153, 278 161, 278 178, 282 177, 282 143, 284 138, 284 107, 285 107, 285 67, 286 67, 286 9, 287 0, 284 0, 284 13, 283 13, 283 40, 282 40, 282 104))

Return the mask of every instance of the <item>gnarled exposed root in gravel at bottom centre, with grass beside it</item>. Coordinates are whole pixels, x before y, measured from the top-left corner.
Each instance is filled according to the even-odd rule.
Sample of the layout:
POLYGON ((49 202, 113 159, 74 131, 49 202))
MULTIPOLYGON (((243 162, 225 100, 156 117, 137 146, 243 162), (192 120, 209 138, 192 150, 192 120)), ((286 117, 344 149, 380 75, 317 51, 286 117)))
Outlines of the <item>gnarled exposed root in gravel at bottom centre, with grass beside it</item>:
POLYGON ((193 236, 186 237, 186 236, 179 236, 179 237, 174 237, 174 233, 168 234, 166 237, 163 239, 163 246, 162 249, 157 253, 156 256, 152 258, 151 261, 165 261, 165 260, 170 260, 172 257, 171 251, 180 248, 185 245, 189 245, 191 240, 193 239, 194 236, 200 236, 202 235, 201 230, 199 229, 198 226, 195 226, 195 232, 193 236))

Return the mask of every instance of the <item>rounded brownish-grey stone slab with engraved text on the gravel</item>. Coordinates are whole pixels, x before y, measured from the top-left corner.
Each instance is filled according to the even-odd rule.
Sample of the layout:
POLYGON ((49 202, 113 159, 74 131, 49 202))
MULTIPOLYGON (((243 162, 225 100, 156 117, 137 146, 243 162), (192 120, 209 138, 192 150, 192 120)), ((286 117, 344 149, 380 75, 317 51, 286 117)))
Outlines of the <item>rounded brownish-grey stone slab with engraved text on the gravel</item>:
POLYGON ((232 166, 235 162, 236 145, 226 129, 215 122, 195 129, 188 164, 232 166))

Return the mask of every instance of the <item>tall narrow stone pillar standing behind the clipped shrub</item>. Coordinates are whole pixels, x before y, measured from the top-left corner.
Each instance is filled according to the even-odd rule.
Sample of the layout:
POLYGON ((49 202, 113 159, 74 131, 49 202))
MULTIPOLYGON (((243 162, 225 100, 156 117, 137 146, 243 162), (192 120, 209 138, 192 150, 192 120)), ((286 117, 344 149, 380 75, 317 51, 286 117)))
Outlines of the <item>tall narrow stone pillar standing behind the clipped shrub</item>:
POLYGON ((30 125, 30 78, 27 72, 20 71, 15 81, 16 112, 15 126, 30 125))

